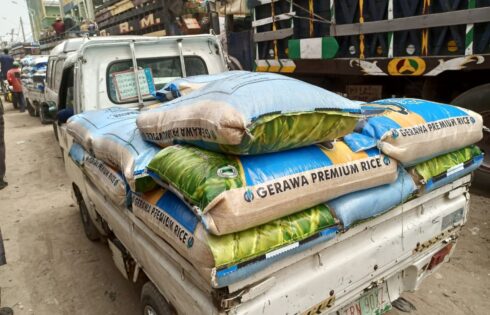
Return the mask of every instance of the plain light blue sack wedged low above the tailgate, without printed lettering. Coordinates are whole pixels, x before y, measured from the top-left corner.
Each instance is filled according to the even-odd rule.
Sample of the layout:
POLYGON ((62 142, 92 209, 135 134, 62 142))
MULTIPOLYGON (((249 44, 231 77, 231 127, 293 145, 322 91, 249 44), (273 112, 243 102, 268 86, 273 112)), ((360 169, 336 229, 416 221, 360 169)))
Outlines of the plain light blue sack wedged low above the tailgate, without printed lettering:
POLYGON ((402 204, 416 189, 412 177, 399 167, 395 182, 356 191, 330 200, 327 204, 342 226, 349 228, 354 223, 372 219, 402 204))

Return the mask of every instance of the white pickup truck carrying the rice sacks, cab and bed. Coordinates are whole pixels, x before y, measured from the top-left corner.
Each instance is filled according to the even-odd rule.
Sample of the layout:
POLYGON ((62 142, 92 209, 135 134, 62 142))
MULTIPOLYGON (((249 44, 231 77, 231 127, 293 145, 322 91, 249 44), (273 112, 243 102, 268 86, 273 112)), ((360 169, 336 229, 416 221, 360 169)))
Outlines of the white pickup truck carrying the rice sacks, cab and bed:
MULTIPOLYGON (((175 77, 227 70, 211 35, 88 40, 65 61, 60 109, 71 106, 80 113, 151 104, 141 94, 122 104, 110 88, 112 72, 138 67, 152 69, 157 88, 175 77)), ((219 273, 204 279, 131 211, 114 206, 68 157, 73 139, 65 125, 57 132, 86 235, 107 240, 124 277, 145 282, 141 301, 148 315, 381 314, 451 255, 469 210, 466 176, 337 232, 330 241, 252 265, 234 281, 219 273)))

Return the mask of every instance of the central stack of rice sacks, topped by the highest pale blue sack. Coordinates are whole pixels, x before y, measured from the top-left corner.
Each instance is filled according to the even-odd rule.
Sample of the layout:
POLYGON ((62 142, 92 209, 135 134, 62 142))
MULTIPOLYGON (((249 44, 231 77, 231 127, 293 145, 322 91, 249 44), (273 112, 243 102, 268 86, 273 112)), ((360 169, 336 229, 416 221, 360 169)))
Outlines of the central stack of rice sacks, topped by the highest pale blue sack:
POLYGON ((379 149, 333 141, 355 128, 358 103, 276 74, 210 77, 139 115, 143 136, 163 149, 147 166, 159 188, 134 194, 133 212, 214 286, 334 237, 348 207, 329 200, 405 188, 377 213, 346 212, 350 225, 415 189, 379 149))

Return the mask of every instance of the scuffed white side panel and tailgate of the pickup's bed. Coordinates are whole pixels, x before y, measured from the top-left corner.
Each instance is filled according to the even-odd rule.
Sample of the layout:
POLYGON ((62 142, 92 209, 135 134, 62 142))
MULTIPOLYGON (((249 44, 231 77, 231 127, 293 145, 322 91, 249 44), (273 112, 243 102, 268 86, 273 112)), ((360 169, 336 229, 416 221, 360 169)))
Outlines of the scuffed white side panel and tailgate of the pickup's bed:
POLYGON ((415 290, 432 256, 453 243, 466 221, 471 176, 410 200, 333 239, 280 259, 224 288, 204 279, 129 210, 119 209, 85 178, 89 206, 102 217, 150 280, 182 314, 331 312, 384 287, 389 299, 415 290))

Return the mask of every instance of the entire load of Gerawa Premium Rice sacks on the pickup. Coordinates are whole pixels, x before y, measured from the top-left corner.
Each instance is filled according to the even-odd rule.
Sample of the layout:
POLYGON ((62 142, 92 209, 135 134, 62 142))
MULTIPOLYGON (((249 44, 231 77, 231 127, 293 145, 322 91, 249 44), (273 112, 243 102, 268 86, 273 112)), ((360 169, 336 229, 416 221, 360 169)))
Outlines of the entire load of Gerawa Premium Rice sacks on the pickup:
POLYGON ((302 81, 244 71, 178 79, 160 93, 170 101, 141 113, 71 118, 70 156, 214 287, 481 163, 472 146, 481 117, 448 105, 361 107, 302 81), (457 125, 464 128, 441 133, 457 125))

